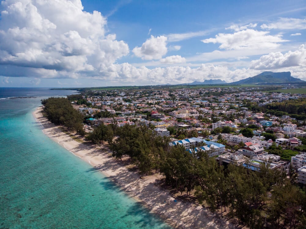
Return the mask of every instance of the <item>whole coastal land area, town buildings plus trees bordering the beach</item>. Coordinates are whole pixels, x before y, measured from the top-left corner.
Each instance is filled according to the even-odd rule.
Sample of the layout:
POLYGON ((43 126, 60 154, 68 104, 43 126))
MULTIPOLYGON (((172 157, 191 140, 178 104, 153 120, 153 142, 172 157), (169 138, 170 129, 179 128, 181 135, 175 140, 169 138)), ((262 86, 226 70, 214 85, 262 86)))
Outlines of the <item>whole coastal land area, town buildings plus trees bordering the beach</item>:
POLYGON ((140 179, 153 175, 175 200, 249 228, 281 228, 304 225, 304 91, 108 87, 41 102, 73 139, 106 150, 140 179))

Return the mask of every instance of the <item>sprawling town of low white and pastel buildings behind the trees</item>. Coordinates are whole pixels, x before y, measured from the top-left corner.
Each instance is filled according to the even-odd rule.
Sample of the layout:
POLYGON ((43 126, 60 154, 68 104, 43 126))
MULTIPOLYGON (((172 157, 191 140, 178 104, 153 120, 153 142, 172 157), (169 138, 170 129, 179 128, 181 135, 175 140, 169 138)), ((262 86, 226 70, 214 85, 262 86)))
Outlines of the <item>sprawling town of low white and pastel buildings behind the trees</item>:
POLYGON ((263 90, 263 86, 88 90, 82 93, 83 101, 72 103, 88 117, 87 132, 114 120, 118 126, 145 124, 155 135, 170 137, 170 146, 182 145, 190 152, 207 150, 211 157, 218 156, 215 158, 220 164, 258 170, 262 163, 269 162, 272 169, 289 174, 291 162, 298 183, 306 184, 306 147, 299 147, 300 138, 306 138, 305 119, 292 118, 285 112, 277 116, 259 111, 271 103, 305 99, 306 94, 263 90), (203 143, 205 146, 200 146, 203 143), (273 146, 290 156, 270 153, 273 146))

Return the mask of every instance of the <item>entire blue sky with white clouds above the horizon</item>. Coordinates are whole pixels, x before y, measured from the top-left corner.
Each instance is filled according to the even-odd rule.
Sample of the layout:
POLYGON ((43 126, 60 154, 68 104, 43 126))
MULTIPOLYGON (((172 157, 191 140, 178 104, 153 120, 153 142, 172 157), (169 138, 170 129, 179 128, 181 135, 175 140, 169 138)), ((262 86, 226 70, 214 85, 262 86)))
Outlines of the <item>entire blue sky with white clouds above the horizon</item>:
POLYGON ((0 87, 306 80, 305 32, 305 0, 6 0, 0 87))

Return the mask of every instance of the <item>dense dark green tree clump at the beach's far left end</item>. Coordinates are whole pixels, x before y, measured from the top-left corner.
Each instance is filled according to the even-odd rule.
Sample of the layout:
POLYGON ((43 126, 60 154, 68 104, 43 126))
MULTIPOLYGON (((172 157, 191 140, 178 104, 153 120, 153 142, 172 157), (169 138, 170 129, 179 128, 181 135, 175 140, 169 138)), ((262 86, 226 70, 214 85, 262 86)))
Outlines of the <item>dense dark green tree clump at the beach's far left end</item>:
POLYGON ((69 131, 76 131, 80 135, 85 134, 83 115, 73 108, 67 98, 42 99, 41 104, 44 105, 49 121, 57 125, 64 125, 69 131))

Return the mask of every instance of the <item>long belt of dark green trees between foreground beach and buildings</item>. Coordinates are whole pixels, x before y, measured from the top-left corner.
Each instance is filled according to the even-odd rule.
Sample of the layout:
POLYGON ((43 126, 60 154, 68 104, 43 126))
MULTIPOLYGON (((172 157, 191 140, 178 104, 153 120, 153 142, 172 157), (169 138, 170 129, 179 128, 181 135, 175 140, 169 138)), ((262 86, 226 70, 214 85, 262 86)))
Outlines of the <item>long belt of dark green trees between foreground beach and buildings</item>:
POLYGON ((226 217, 235 217, 248 228, 304 228, 306 194, 295 186, 295 172, 287 179, 269 164, 262 164, 259 172, 223 167, 209 157, 210 152, 171 147, 169 138, 155 136, 146 126, 109 126, 101 128, 114 157, 129 156, 141 173, 159 172, 167 185, 193 194, 211 211, 226 211, 226 217), (112 134, 118 138, 111 140, 112 134))

